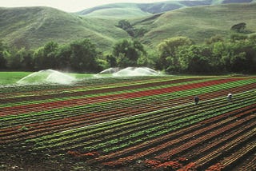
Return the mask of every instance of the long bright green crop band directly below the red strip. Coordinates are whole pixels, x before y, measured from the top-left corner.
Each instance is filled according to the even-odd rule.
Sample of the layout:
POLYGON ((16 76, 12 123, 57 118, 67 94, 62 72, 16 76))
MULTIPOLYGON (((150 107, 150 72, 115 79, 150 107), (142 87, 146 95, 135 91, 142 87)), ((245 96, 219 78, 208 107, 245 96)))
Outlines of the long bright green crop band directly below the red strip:
MULTIPOLYGON (((218 91, 218 90, 221 90, 221 89, 230 89, 230 88, 234 88, 234 87, 237 87, 237 86, 246 85, 246 84, 250 84, 250 83, 254 83, 254 82, 255 82, 255 79, 254 80, 242 80, 242 81, 238 81, 238 82, 232 82, 232 84, 230 84, 230 82, 229 82, 229 83, 225 83, 225 84, 221 84, 221 85, 212 85, 212 86, 202 87, 202 88, 198 88, 198 89, 188 89, 188 90, 185 90, 185 91, 178 91, 178 92, 174 92, 174 93, 158 94, 158 95, 149 96, 149 97, 129 98, 129 99, 126 99, 126 100, 122 100, 120 103, 124 104, 123 107, 128 107, 129 105, 127 105, 127 104, 135 104, 135 101, 138 101, 137 104, 139 104, 139 103, 142 104, 143 101, 145 101, 146 103, 149 103, 150 101, 156 101, 157 98, 158 98, 158 101, 166 101, 166 99, 174 99, 174 97, 186 97, 186 96, 191 96, 191 95, 198 94, 198 93, 210 93, 210 92, 213 92, 213 91, 218 91)), ((51 117, 51 118, 54 117, 55 119, 57 119, 57 118, 64 117, 64 112, 65 111, 66 111, 66 113, 68 113, 68 115, 70 115, 69 114, 70 111, 74 111, 76 109, 82 109, 82 108, 84 108, 85 111, 87 110, 88 113, 90 113, 90 110, 88 110, 88 108, 92 109, 91 112, 97 112, 97 111, 95 111, 95 108, 98 108, 102 105, 105 105, 105 106, 108 106, 108 107, 111 107, 112 105, 115 105, 115 108, 117 108, 117 106, 119 104, 117 104, 115 102, 116 101, 103 102, 103 103, 100 102, 100 103, 92 104, 92 105, 80 105, 80 106, 66 107, 66 108, 63 108, 63 109, 52 109, 50 111, 44 111, 42 113, 26 113, 26 114, 14 115, 14 116, 9 115, 9 116, 6 116, 4 118, 1 117, 0 120, 8 121, 8 120, 15 120, 17 118, 22 118, 21 121, 24 121, 23 118, 30 117, 30 119, 31 119, 33 116, 41 116, 42 114, 46 115, 46 117, 51 117), (57 112, 57 113, 55 113, 55 112, 57 112), (54 114, 54 116, 50 116, 50 115, 53 115, 53 114, 54 114)), ((135 105, 137 105, 137 104, 135 104, 135 105)), ((102 109, 100 109, 100 110, 102 111, 102 109)), ((80 112, 78 112, 78 114, 83 113, 85 111, 80 111, 80 112)), ((44 121, 42 117, 40 117, 40 119, 42 121, 44 121)), ((46 121, 48 121, 48 120, 46 120, 46 121)), ((15 121, 13 121, 13 123, 14 122, 15 121)))

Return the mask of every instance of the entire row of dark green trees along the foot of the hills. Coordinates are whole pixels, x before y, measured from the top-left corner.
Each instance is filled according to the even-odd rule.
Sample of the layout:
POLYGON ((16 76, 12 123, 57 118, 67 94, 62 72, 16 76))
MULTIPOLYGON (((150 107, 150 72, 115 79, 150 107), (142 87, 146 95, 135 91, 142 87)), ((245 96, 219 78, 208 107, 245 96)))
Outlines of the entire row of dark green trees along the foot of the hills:
POLYGON ((190 38, 167 38, 155 50, 136 39, 120 40, 103 54, 90 39, 37 50, 15 49, 0 41, 0 70, 72 70, 95 73, 109 67, 148 66, 170 74, 256 73, 256 34, 214 36, 197 44, 190 38))

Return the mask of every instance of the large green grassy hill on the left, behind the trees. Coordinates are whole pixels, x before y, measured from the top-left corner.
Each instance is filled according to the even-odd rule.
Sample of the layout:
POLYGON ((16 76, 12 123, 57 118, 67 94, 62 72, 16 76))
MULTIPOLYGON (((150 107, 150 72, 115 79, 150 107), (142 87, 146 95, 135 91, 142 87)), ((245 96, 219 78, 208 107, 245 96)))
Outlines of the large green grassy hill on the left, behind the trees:
POLYGON ((36 48, 46 42, 67 43, 91 38, 102 50, 126 32, 115 19, 82 18, 48 7, 0 8, 0 39, 18 47, 36 48))

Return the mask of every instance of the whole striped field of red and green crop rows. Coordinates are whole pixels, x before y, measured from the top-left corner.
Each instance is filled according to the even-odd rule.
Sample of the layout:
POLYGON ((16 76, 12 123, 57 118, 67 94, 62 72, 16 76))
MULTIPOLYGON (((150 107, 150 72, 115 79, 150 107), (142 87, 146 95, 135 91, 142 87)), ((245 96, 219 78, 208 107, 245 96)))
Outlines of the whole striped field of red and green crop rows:
POLYGON ((256 77, 0 87, 3 170, 255 170, 255 137, 256 77))

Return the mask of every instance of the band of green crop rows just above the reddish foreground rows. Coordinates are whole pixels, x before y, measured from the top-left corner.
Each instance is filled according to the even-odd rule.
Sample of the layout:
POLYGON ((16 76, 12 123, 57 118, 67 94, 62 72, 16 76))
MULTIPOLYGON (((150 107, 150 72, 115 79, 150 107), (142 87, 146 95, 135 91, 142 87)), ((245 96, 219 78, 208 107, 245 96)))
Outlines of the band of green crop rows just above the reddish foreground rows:
MULTIPOLYGON (((173 131, 175 129, 179 129, 180 127, 184 127, 186 125, 190 125, 193 123, 197 123, 198 121, 203 121, 207 118, 214 117, 221 115, 223 113, 232 111, 234 109, 239 109, 242 106, 252 105, 254 104, 254 97, 248 98, 246 101, 244 101, 244 95, 251 96, 254 92, 250 93, 243 93, 241 94, 241 99, 239 99, 236 104, 231 104, 226 106, 224 103, 225 99, 223 99, 219 104, 218 102, 214 101, 216 106, 218 106, 218 109, 216 108, 210 108, 210 105, 206 105, 206 108, 202 106, 202 109, 191 109, 194 111, 194 113, 189 112, 189 110, 182 110, 181 112, 174 112, 174 109, 165 109, 164 111, 156 111, 155 113, 150 113, 154 115, 158 115, 158 113, 164 112, 164 117, 159 117, 151 120, 154 121, 153 123, 149 124, 145 122, 144 120, 147 119, 147 116, 139 116, 142 118, 136 118, 137 116, 123 118, 124 123, 128 121, 128 125, 130 126, 132 122, 134 121, 134 126, 131 129, 127 129, 125 126, 122 128, 120 125, 122 122, 120 120, 116 121, 116 124, 118 124, 118 127, 120 129, 114 129, 114 133, 109 133, 110 136, 108 137, 108 131, 105 131, 107 129, 110 129, 110 132, 113 131, 114 123, 109 122, 107 123, 108 126, 102 127, 102 125, 95 125, 94 129, 93 126, 85 127, 82 129, 74 129, 69 133, 69 131, 66 131, 64 133, 57 133, 52 135, 51 137, 57 136, 57 140, 51 139, 48 137, 41 137, 39 139, 35 139, 34 141, 37 142, 35 145, 35 149, 55 149, 56 147, 64 147, 66 148, 78 148, 83 147, 84 150, 103 150, 105 152, 114 151, 117 149, 122 149, 124 146, 130 146, 132 144, 138 144, 141 141, 147 141, 150 140, 150 138, 161 136, 162 134, 168 133, 170 131, 173 131), (245 103, 246 102, 246 103, 245 103), (207 109, 207 112, 205 111, 207 109), (203 111, 203 112, 202 112, 203 111), (182 115, 183 114, 183 115, 182 115), (139 120, 138 120, 139 119, 139 120), (138 120, 138 121, 137 121, 138 120), (86 131, 86 129, 89 129, 86 131), (98 132, 101 130, 101 132, 98 133, 98 136, 94 136, 94 132, 98 132), (78 132, 78 133, 76 133, 78 132), (116 133, 118 132, 118 133, 116 133), (103 134, 104 133, 104 134, 103 134), (62 135, 61 135, 62 134, 62 135), (68 136, 70 134, 70 136, 68 136), (142 137, 143 136, 143 137, 142 137), (94 137, 94 140, 92 141, 91 138, 94 137), (97 139, 98 137, 98 139, 97 139), (102 137, 105 137, 102 139, 102 137), (140 138, 141 137, 141 138, 140 138), (44 139, 46 138, 46 139, 44 139), (48 139, 48 140, 47 140, 48 139), (70 141, 73 139, 73 141, 70 141), (91 141, 90 141, 91 140, 91 141), (41 141, 41 142, 40 142, 41 141), (83 142, 80 145, 79 142, 83 142), (128 143, 127 143, 128 142, 128 143), (87 148, 88 147, 88 148, 87 148)), ((146 113, 148 114, 148 113, 146 113)))

